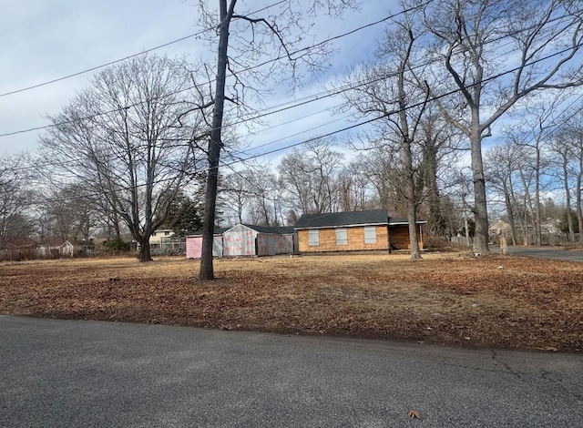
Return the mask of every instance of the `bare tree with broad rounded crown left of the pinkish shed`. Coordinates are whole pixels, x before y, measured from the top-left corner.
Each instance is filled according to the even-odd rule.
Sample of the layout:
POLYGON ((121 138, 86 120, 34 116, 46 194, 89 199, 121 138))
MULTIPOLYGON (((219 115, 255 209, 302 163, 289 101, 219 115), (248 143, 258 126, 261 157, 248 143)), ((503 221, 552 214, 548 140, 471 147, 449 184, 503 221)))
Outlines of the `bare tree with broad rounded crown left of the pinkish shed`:
MULTIPOLYGON (((191 178, 202 118, 179 63, 140 56, 97 74, 41 138, 43 156, 75 178, 128 226, 151 260, 149 237, 191 178)), ((70 178, 68 178, 70 179, 70 178)))

